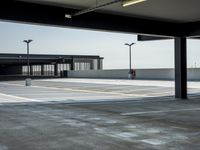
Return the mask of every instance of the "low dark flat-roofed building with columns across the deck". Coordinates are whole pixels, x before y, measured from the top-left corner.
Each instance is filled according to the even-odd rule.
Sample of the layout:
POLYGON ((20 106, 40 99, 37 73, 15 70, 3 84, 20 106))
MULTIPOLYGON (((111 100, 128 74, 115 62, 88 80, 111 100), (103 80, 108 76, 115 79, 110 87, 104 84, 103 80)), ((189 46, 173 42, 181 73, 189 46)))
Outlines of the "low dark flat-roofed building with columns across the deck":
MULTIPOLYGON (((103 58, 87 55, 30 54, 31 76, 61 76, 67 70, 101 70, 103 58)), ((0 75, 28 74, 26 54, 0 54, 0 75)))

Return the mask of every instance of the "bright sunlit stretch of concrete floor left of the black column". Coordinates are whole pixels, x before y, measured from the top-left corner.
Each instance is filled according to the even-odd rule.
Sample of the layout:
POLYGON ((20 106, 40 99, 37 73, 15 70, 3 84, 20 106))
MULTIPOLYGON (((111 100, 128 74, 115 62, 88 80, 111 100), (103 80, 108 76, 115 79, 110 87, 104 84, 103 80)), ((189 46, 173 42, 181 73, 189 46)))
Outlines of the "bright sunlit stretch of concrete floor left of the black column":
MULTIPOLYGON (((149 82, 149 81, 148 81, 149 82)), ((18 102, 85 102, 116 101, 173 97, 174 88, 168 82, 148 83, 130 80, 50 79, 33 80, 31 87, 24 81, 0 82, 0 103, 18 102), (165 83, 165 84, 163 84, 165 83), (168 85, 169 84, 169 85, 168 85)))

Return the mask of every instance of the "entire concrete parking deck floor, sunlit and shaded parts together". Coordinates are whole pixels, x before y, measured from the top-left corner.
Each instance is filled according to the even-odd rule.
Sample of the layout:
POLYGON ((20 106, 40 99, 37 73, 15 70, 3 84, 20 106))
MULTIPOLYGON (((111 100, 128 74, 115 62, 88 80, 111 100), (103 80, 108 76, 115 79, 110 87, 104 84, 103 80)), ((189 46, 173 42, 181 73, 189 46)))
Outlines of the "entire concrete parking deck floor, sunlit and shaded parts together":
POLYGON ((68 81, 0 83, 0 150, 199 150, 198 88, 68 81))

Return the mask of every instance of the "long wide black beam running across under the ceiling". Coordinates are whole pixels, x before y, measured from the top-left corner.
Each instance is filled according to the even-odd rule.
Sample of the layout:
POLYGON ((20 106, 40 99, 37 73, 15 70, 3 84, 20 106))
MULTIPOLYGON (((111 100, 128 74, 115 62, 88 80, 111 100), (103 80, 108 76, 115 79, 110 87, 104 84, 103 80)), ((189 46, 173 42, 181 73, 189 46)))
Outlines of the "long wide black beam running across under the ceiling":
POLYGON ((145 35, 182 36, 180 24, 91 12, 71 19, 78 10, 8 0, 1 2, 0 19, 41 25, 83 28, 145 35))

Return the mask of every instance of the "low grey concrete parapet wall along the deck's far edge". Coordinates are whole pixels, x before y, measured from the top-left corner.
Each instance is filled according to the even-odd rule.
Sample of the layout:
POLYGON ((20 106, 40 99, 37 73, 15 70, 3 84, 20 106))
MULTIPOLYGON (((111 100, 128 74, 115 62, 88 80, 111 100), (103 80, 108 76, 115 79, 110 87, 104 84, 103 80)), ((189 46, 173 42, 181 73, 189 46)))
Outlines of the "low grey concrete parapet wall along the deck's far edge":
MULTIPOLYGON (((68 71, 68 77, 128 79, 128 73, 128 69, 68 71)), ((135 79, 174 80, 174 69, 136 69, 135 79)), ((200 80, 200 68, 189 68, 188 80, 200 80)))

